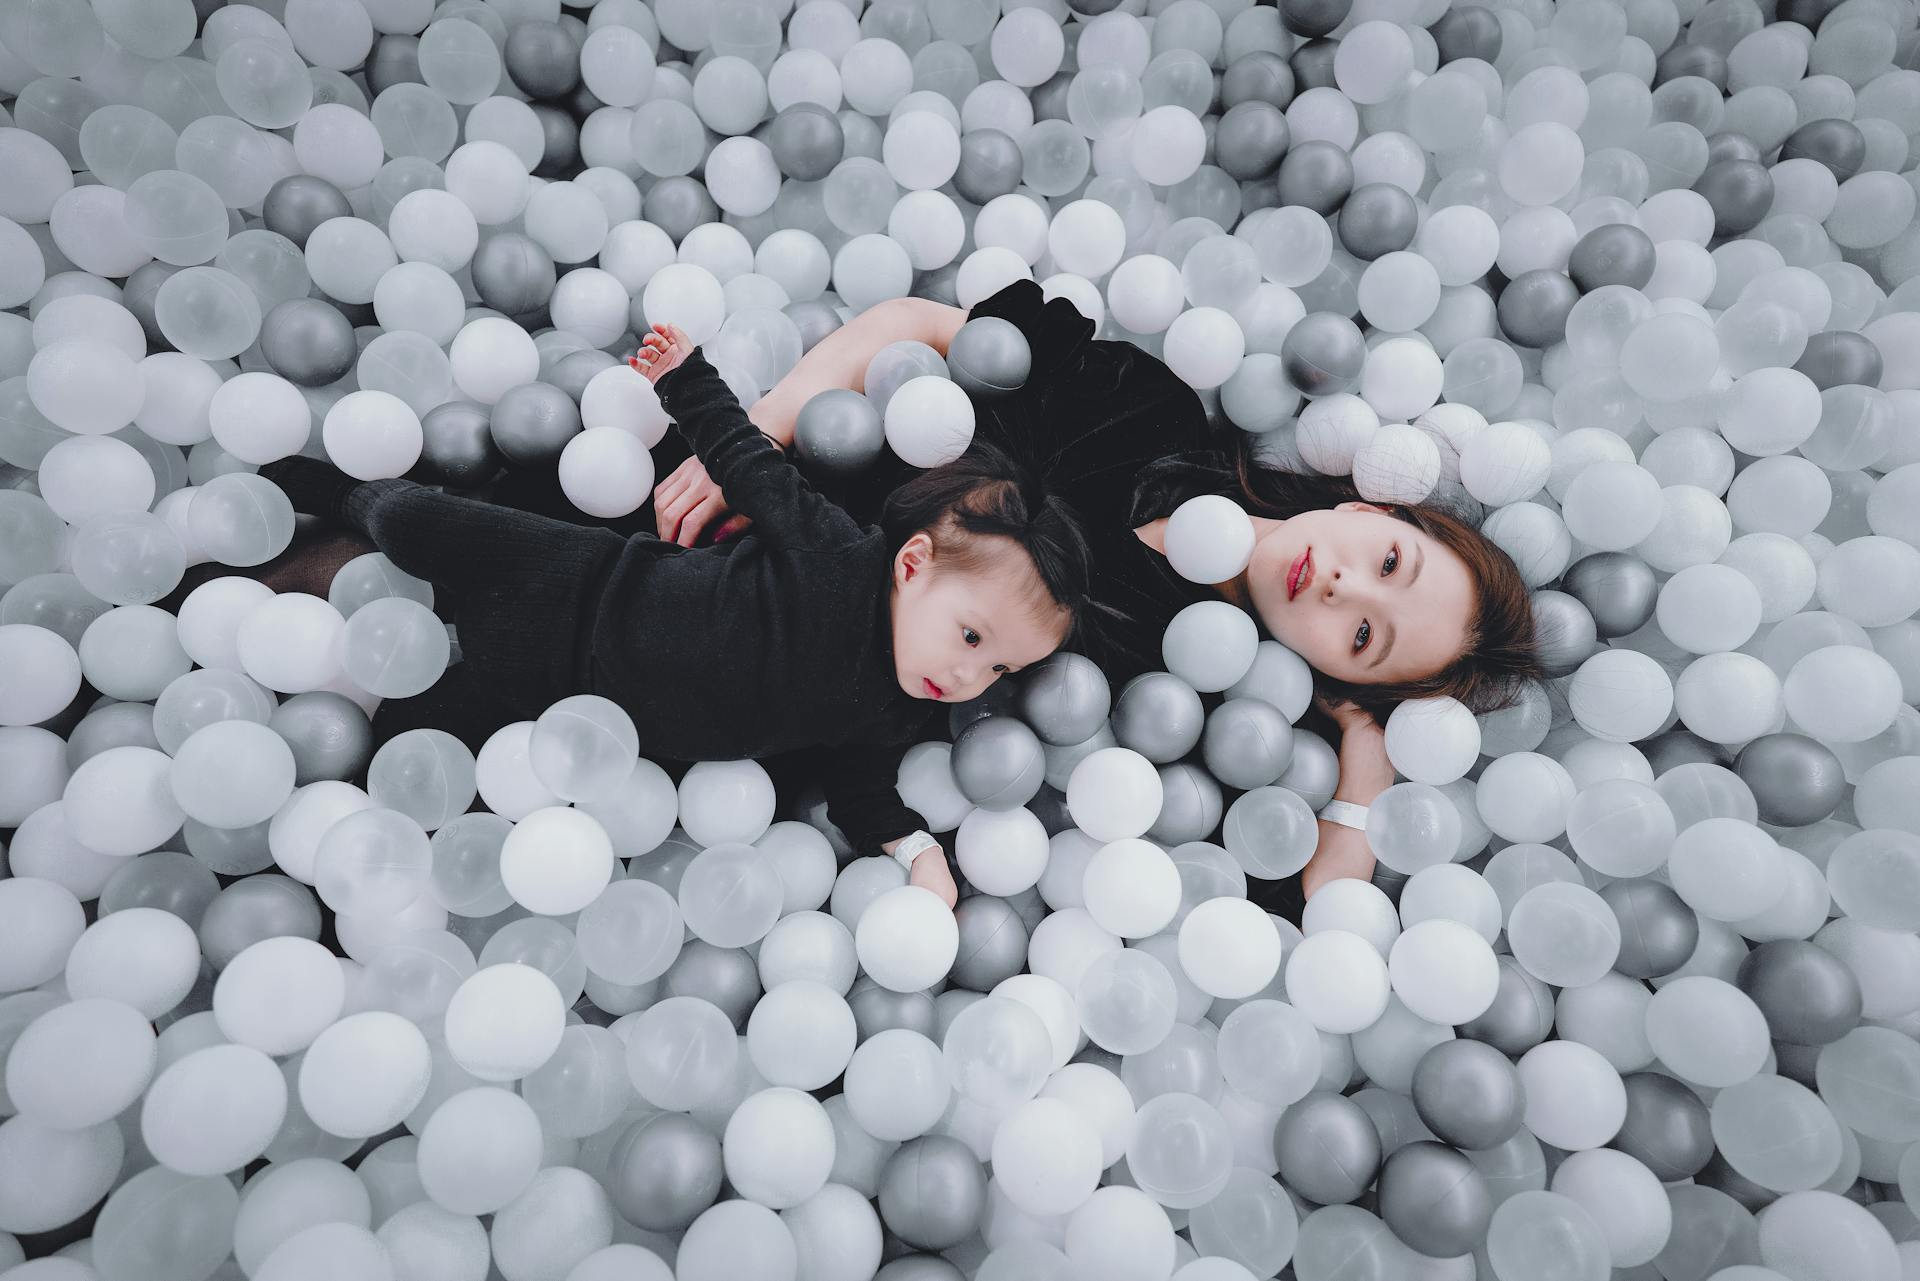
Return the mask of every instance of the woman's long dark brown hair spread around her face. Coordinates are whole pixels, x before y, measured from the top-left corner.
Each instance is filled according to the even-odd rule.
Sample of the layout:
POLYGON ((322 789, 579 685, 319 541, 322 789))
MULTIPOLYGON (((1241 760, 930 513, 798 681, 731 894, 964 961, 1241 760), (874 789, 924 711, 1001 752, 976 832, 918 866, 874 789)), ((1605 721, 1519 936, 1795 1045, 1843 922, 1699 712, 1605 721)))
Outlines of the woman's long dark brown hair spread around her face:
MULTIPOLYGON (((1346 476, 1290 472, 1256 461, 1250 438, 1242 436, 1235 453, 1240 497, 1256 517, 1284 520, 1302 511, 1367 501, 1346 476)), ((1375 720, 1384 720, 1405 699, 1438 695, 1459 699, 1476 713, 1511 707, 1532 682, 1546 676, 1534 640, 1532 590, 1513 557, 1486 534, 1438 507, 1415 503, 1388 511, 1467 563, 1475 586, 1467 645, 1457 659, 1421 680, 1357 686, 1315 672, 1319 693, 1334 701, 1346 699, 1375 720)))

